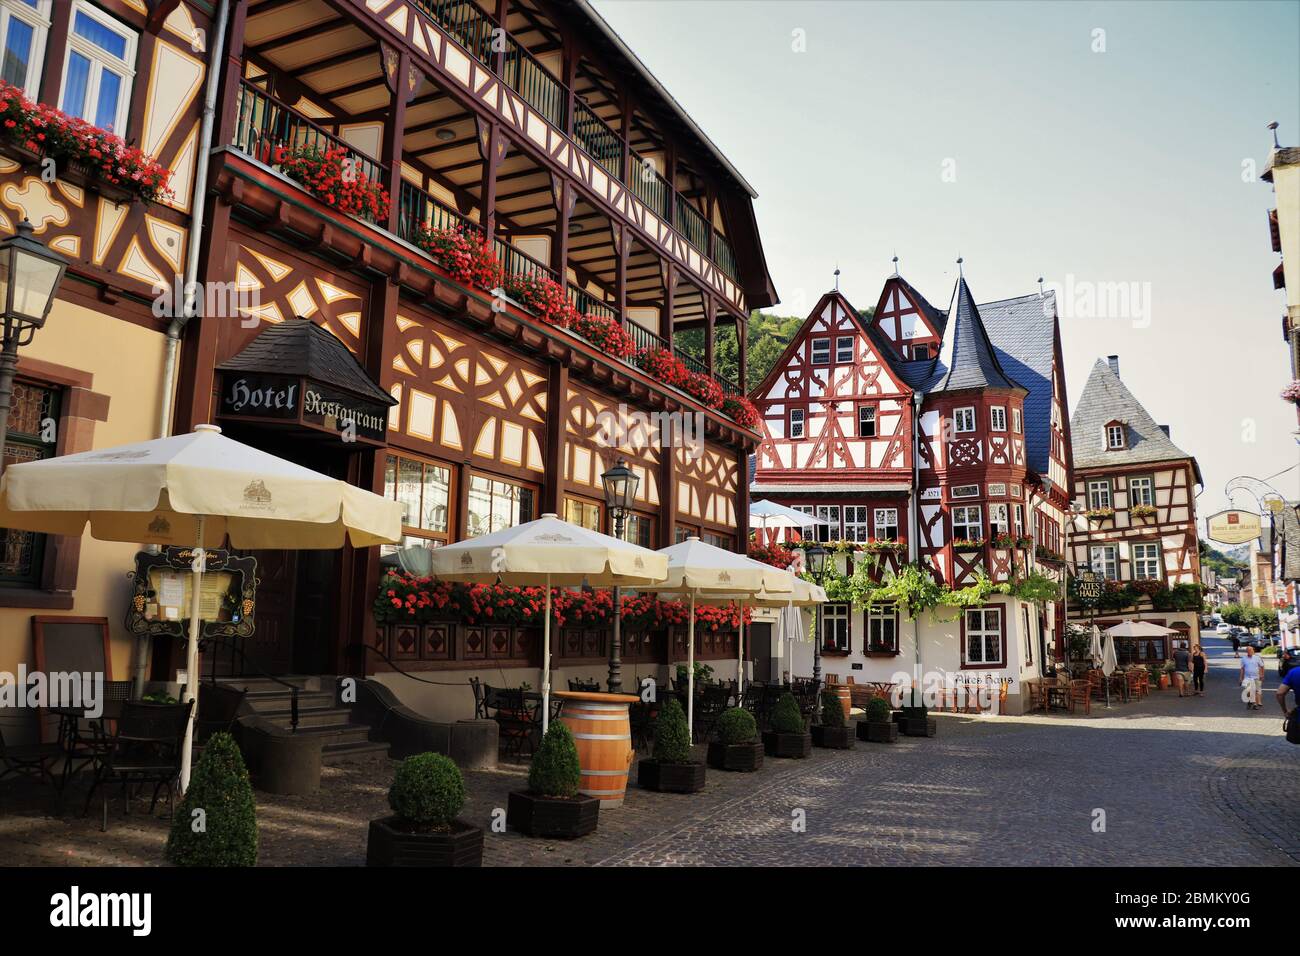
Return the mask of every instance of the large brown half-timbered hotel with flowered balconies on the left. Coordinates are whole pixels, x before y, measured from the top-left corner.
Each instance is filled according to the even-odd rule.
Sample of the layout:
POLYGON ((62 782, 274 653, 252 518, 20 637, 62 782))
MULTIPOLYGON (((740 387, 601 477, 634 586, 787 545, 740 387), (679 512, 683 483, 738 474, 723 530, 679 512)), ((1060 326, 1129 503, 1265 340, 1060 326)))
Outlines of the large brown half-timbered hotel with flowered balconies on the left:
MULTIPOLYGON (((755 193, 586 3, 0 10, 6 48, 23 25, 36 38, 5 79, 170 172, 166 198, 124 199, 0 147, 0 230, 27 217, 72 263, 22 354, 6 460, 216 421, 402 501, 403 546, 436 548, 543 512, 610 531, 601 473, 623 457, 641 479, 629 536, 744 546, 745 323, 776 300, 755 193), (488 265, 458 268, 448 243, 488 265), (156 307, 181 280, 207 308, 156 307), (696 330, 702 346, 684 347, 696 330), (720 336, 737 339, 727 371, 720 336), (35 428, 51 415, 66 423, 56 445, 35 428)), ((133 549, 87 540, 94 574, 78 579, 79 541, 10 538, 0 669, 51 609, 105 615, 124 674, 133 549)), ((380 549, 256 557, 256 632, 205 666, 377 672, 399 691, 394 667, 456 671, 463 692, 412 698, 439 718, 473 713, 476 674, 540 683, 532 630, 376 624, 380 549)), ((556 679, 603 674, 607 640, 563 635, 556 679)), ((155 678, 174 676, 176 650, 155 648, 155 678)), ((672 650, 627 654, 654 669, 672 650)))

